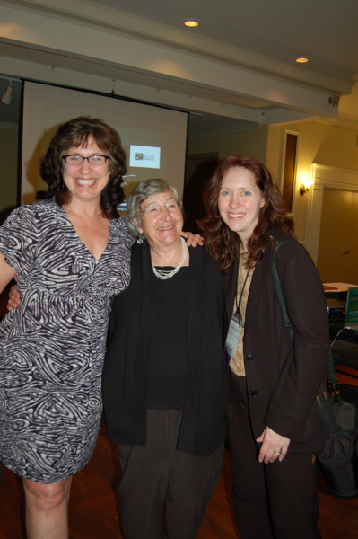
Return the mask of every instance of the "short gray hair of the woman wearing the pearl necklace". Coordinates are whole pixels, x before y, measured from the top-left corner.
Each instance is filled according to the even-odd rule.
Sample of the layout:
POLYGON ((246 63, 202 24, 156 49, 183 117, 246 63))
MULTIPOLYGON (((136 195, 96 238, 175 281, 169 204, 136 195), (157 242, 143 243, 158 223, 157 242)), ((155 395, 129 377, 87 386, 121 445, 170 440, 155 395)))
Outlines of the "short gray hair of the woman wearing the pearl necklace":
POLYGON ((170 185, 168 181, 160 179, 144 180, 135 186, 135 189, 127 198, 128 230, 131 234, 133 234, 135 237, 141 235, 137 229, 137 225, 135 225, 135 220, 139 226, 142 225, 141 207, 144 200, 149 199, 149 197, 153 197, 158 193, 165 193, 168 190, 173 193, 174 198, 180 206, 178 191, 175 189, 175 187, 170 185))

